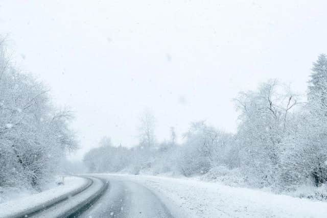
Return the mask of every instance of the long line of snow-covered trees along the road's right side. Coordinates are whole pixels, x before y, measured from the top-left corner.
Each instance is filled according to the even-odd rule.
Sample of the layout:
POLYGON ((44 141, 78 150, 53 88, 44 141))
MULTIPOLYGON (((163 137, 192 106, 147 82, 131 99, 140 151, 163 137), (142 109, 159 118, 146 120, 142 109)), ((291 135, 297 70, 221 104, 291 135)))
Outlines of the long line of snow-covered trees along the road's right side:
POLYGON ((170 173, 228 177, 251 187, 321 186, 327 179, 327 59, 313 64, 307 101, 289 86, 269 80, 235 99, 238 130, 228 134, 204 122, 191 125, 184 142, 156 143, 153 117, 141 119, 132 149, 102 141, 84 157, 91 172, 170 173))

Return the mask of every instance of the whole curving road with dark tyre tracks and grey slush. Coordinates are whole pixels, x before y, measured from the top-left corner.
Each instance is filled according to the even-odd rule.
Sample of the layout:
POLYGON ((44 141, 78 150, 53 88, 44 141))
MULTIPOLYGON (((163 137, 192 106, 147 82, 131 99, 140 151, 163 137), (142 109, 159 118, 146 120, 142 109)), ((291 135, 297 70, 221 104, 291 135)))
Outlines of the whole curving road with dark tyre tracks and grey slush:
POLYGON ((2 217, 173 217, 159 197, 143 185, 106 174, 83 177, 87 182, 72 192, 2 217))

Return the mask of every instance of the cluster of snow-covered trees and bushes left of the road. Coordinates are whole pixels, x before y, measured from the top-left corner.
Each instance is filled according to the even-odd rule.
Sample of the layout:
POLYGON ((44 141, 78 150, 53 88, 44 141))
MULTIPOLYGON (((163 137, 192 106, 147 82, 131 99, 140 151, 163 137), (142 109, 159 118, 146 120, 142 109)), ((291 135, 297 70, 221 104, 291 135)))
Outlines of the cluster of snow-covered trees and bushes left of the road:
POLYGON ((11 62, 0 38, 0 188, 39 189, 51 179, 77 147, 71 118, 55 109, 43 83, 11 62))

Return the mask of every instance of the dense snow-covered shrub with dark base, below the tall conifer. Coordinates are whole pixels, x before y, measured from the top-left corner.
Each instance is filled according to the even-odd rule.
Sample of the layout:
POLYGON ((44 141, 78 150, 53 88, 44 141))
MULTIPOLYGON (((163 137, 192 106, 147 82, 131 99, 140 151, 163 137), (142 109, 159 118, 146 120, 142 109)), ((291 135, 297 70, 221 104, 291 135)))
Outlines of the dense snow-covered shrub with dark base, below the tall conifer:
POLYGON ((302 185, 308 180, 315 186, 327 181, 327 135, 323 117, 300 114, 298 128, 285 140, 281 155, 281 181, 285 186, 302 185))

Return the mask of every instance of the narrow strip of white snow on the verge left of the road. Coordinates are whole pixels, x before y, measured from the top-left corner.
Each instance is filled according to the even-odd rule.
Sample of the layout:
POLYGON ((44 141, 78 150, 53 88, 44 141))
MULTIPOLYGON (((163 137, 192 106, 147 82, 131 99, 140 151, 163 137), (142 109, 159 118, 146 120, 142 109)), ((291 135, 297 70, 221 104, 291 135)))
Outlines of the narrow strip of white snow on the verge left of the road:
POLYGON ((76 190, 87 184, 87 180, 80 177, 65 177, 65 184, 45 190, 34 195, 29 195, 15 200, 7 201, 0 204, 0 217, 16 213, 18 211, 25 211, 44 202, 51 201, 58 198, 65 193, 76 190))

